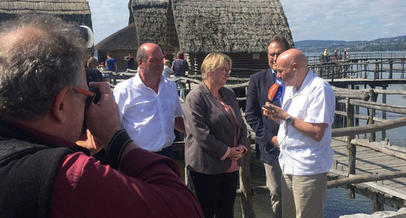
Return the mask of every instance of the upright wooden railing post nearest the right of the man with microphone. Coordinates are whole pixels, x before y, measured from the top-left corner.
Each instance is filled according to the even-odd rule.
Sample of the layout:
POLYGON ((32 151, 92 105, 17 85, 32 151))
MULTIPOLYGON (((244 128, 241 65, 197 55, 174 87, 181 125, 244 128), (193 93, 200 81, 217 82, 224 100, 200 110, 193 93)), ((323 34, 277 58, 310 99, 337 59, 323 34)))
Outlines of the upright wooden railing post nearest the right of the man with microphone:
MULTIPOLYGON (((347 127, 354 126, 354 105, 349 103, 349 97, 346 99, 347 110, 347 127)), ((356 147, 351 144, 351 140, 354 139, 354 135, 347 136, 347 152, 348 152, 348 173, 355 174, 355 160, 356 160, 356 147)), ((348 189, 349 198, 355 198, 354 186, 349 186, 348 189)))

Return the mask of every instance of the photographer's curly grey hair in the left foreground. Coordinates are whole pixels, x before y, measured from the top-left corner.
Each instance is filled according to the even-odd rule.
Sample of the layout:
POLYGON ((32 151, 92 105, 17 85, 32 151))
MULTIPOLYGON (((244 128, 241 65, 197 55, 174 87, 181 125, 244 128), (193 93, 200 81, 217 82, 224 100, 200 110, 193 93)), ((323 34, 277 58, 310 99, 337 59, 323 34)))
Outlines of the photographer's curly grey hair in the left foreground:
POLYGON ((38 119, 63 87, 82 84, 86 46, 78 28, 62 19, 21 16, 0 26, 0 40, 0 118, 38 119), (27 28, 39 35, 5 42, 27 28))

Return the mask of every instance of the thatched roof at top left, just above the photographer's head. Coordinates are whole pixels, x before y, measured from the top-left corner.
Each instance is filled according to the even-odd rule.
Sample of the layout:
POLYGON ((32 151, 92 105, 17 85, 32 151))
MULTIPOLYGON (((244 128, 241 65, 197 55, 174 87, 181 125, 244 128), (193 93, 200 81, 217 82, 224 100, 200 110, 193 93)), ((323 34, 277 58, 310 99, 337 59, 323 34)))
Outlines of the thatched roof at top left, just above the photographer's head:
POLYGON ((59 16, 63 20, 92 28, 91 11, 86 0, 1 0, 0 20, 16 18, 18 14, 40 13, 59 16))

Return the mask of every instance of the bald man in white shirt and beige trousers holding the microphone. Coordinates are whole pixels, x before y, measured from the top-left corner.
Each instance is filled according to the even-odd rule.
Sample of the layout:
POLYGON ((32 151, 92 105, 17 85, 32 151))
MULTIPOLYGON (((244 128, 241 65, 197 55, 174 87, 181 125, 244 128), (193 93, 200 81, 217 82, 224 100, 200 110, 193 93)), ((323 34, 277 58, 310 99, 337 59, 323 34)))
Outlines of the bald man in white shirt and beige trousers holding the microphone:
POLYGON ((323 217, 327 171, 334 155, 334 92, 308 68, 298 49, 279 56, 277 77, 286 84, 282 108, 267 103, 269 109, 263 109, 265 116, 280 123, 282 217, 323 217))

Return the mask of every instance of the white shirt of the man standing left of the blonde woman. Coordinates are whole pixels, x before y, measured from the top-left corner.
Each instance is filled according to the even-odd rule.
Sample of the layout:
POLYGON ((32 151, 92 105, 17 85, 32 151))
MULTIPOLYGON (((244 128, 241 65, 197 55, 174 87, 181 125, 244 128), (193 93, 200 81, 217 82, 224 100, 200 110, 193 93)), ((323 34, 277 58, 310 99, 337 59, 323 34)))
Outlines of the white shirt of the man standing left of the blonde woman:
POLYGON ((142 83, 139 73, 118 83, 113 90, 122 125, 134 143, 151 152, 172 145, 175 117, 182 116, 178 91, 172 80, 161 76, 158 94, 142 83))

